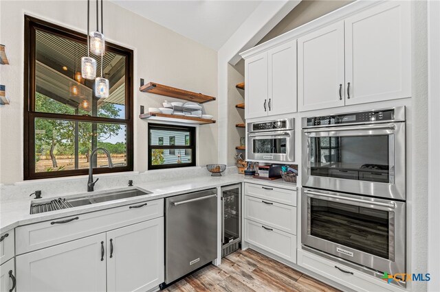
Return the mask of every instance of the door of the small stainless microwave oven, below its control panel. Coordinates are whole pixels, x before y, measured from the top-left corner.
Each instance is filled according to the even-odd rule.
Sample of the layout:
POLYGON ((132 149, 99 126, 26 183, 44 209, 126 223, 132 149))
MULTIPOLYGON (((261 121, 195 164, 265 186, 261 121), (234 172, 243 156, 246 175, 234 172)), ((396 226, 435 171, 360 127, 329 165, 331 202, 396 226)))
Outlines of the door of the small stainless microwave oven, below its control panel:
POLYGON ((248 133, 247 160, 294 161, 294 130, 248 133))

